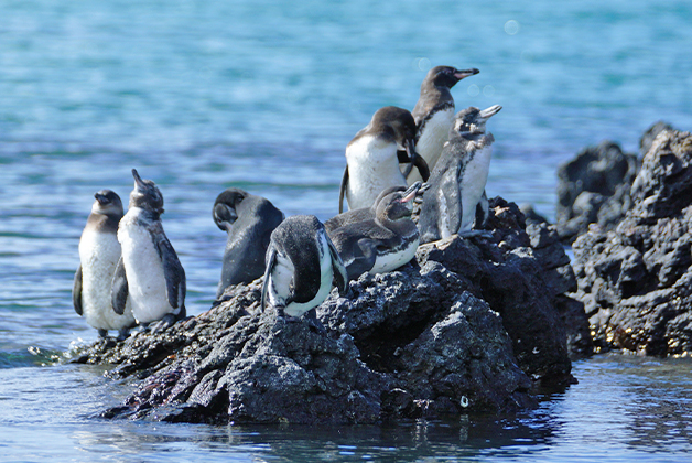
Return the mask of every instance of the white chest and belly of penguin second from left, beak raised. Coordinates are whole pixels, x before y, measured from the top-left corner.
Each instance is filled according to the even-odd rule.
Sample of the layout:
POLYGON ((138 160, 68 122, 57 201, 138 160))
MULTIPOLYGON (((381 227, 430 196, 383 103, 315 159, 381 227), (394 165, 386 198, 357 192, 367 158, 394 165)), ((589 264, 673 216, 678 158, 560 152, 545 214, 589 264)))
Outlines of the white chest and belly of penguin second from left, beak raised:
POLYGON ((118 240, 122 246, 122 262, 128 279, 132 313, 138 322, 150 323, 162 319, 172 312, 173 308, 166 299, 161 256, 151 233, 145 226, 138 224, 137 209, 130 208, 120 222, 118 240))

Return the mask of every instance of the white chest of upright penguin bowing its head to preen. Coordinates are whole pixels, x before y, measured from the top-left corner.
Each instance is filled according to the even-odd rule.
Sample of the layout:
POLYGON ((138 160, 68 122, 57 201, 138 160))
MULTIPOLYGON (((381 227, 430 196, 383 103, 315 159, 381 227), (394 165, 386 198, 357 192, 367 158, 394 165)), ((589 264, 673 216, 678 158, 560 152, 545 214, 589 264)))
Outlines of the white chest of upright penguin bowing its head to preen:
POLYGON ((365 136, 346 148, 349 209, 370 207, 380 192, 389 186, 406 186, 399 170, 397 143, 379 137, 365 136))

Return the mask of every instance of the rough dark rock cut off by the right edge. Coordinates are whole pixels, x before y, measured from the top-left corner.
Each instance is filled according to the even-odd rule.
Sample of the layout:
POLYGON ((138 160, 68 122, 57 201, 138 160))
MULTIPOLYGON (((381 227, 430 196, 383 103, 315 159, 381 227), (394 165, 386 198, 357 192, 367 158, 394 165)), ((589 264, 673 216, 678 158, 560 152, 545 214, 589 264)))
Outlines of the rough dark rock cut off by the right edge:
POLYGON ((574 243, 574 270, 597 348, 692 353, 692 134, 664 130, 614 230, 574 243))

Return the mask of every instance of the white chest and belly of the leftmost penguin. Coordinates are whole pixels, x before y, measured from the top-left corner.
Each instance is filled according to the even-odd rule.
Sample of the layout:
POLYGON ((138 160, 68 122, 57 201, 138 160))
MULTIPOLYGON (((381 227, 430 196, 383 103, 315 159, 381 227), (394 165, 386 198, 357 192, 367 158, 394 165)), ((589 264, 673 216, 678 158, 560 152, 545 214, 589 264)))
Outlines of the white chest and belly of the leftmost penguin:
POLYGON ((121 330, 133 324, 128 301, 125 313, 117 314, 110 303, 120 244, 115 233, 85 229, 79 239, 82 263, 82 309, 87 323, 97 330, 121 330))

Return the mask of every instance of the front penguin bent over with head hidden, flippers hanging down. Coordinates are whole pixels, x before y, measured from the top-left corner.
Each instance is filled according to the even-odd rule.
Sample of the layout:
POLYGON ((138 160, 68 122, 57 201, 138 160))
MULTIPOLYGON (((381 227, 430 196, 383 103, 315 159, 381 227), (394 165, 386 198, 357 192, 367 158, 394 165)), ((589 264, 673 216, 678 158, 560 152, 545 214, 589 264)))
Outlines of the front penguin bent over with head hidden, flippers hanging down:
POLYGON ((285 218, 271 233, 261 306, 296 319, 315 309, 332 291, 348 289, 346 268, 324 225, 313 215, 285 218))

